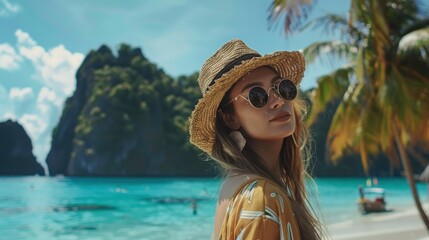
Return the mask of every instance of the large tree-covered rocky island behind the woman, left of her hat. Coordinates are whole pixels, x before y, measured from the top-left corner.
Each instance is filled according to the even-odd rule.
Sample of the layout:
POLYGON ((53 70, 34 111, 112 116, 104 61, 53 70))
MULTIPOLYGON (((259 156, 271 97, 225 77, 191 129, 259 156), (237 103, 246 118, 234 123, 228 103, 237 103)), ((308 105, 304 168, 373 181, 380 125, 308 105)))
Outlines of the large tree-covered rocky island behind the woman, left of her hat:
POLYGON ((52 134, 51 175, 212 176, 187 137, 197 74, 173 79, 139 48, 102 46, 76 74, 52 134))

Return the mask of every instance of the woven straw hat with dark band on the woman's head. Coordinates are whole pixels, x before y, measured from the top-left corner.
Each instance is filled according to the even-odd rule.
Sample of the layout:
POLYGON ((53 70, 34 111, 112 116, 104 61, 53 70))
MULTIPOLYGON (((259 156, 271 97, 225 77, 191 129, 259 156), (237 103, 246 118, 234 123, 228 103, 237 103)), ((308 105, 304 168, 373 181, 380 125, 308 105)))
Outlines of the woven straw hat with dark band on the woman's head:
POLYGON ((280 77, 290 79, 296 85, 301 82, 305 70, 304 57, 298 51, 261 56, 238 39, 225 43, 207 59, 198 77, 203 97, 189 119, 192 144, 212 155, 216 112, 222 98, 242 76, 262 66, 273 67, 280 77))

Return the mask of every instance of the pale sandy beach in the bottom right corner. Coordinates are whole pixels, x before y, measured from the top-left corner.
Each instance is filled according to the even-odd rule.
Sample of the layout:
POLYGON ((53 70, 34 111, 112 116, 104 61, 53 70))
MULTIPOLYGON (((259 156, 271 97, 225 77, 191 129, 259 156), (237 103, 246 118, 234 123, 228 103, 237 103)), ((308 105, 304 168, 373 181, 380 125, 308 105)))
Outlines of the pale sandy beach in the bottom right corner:
MULTIPOLYGON (((424 208, 429 212, 429 205, 424 208)), ((328 231, 333 240, 429 240, 429 233, 414 206, 331 224, 328 231)))

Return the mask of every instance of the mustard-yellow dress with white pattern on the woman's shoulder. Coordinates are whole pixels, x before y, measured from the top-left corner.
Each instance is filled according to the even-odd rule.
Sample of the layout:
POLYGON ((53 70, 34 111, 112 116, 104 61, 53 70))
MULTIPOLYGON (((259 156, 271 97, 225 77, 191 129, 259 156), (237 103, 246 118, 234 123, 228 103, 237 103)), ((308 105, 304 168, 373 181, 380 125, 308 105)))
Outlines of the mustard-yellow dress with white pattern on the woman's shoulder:
POLYGON ((287 193, 267 179, 242 184, 229 202, 219 239, 301 239, 287 193))

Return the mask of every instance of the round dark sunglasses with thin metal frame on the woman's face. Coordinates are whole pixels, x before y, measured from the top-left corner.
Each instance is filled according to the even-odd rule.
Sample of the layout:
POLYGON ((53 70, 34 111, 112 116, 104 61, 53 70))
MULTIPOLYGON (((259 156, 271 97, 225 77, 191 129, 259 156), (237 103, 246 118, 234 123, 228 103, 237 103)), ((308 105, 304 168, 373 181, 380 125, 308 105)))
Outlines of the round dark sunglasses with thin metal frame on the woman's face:
POLYGON ((268 103, 268 98, 270 96, 269 92, 271 89, 274 90, 274 94, 276 94, 284 101, 294 100, 298 93, 295 83, 293 83, 289 79, 282 79, 275 86, 269 88, 268 91, 259 86, 252 87, 247 97, 244 97, 243 95, 238 95, 231 101, 226 103, 224 107, 237 100, 238 97, 241 97, 244 100, 248 101, 250 105, 252 105, 254 108, 263 108, 268 103))

